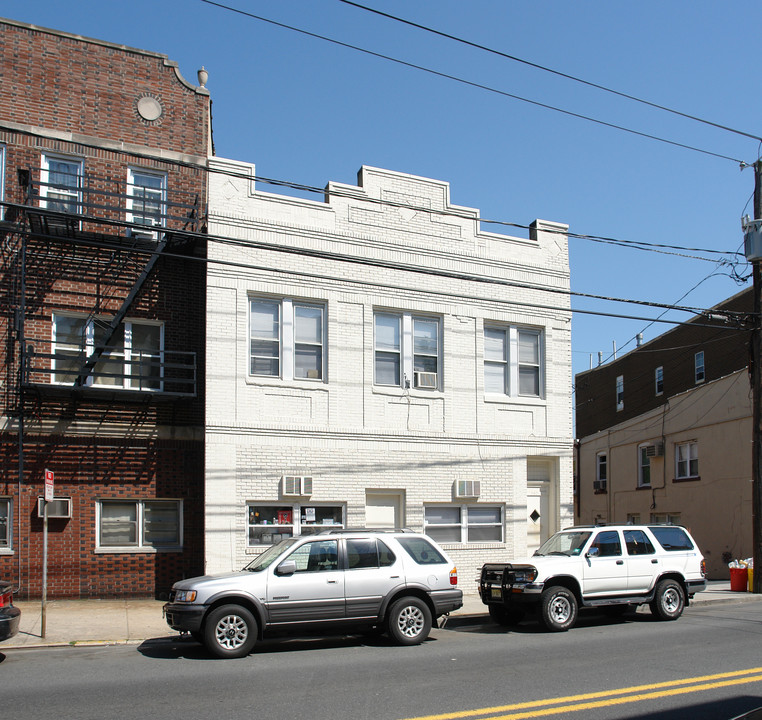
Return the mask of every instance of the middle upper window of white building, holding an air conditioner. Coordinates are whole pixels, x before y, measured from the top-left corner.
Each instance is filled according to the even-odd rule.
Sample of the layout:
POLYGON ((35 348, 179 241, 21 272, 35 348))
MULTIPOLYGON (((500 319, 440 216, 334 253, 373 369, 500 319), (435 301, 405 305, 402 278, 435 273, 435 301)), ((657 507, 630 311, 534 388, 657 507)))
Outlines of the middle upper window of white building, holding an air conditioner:
POLYGON ((375 313, 373 336, 376 385, 441 389, 438 318, 375 313))

